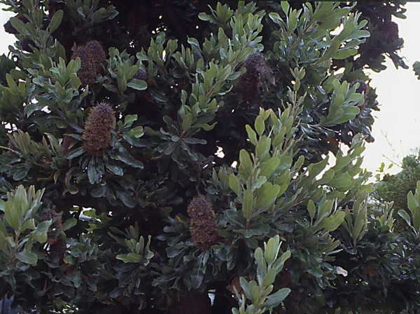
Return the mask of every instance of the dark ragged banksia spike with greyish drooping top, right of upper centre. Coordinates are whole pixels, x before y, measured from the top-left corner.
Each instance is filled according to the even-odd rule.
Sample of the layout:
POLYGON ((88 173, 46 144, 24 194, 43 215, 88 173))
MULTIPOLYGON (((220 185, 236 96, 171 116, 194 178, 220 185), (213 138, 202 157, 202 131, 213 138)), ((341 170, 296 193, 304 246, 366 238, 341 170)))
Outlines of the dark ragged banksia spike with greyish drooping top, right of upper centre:
POLYGON ((242 65, 241 69, 246 68, 246 72, 239 76, 235 83, 235 90, 242 94, 246 102, 251 102, 258 94, 260 78, 274 84, 274 76, 269 68, 264 56, 261 53, 251 53, 242 65))

